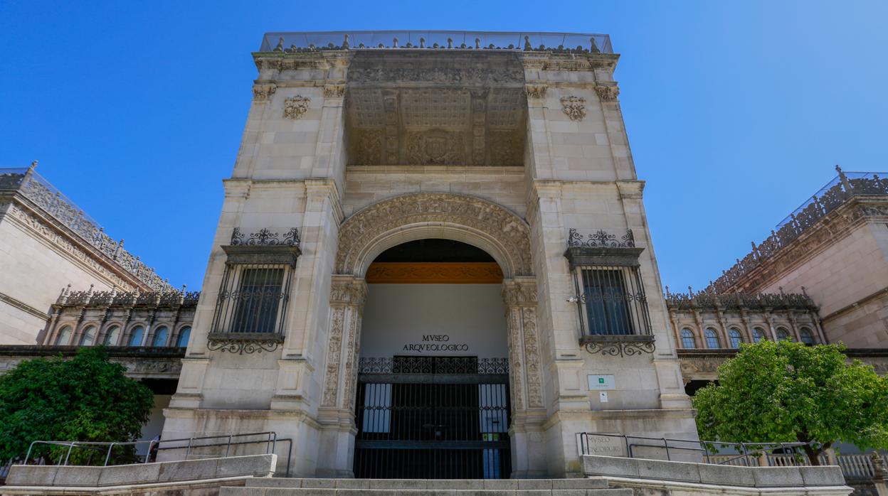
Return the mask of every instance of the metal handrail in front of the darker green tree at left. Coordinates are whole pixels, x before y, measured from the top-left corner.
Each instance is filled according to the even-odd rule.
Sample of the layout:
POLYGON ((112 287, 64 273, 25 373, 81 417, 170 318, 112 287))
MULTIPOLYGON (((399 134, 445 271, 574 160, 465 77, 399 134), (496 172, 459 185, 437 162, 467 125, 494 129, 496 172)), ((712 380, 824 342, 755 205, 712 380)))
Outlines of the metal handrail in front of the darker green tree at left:
MULTIPOLYGON (((28 445, 28 453, 25 455, 25 460, 22 462, 22 465, 28 465, 28 460, 31 458, 31 453, 34 449, 35 445, 58 445, 58 446, 67 446, 67 453, 65 454, 64 461, 61 457, 59 457, 59 462, 57 465, 59 466, 67 466, 68 461, 71 457, 71 452, 75 447, 78 448, 87 448, 93 450, 99 450, 100 446, 107 446, 107 452, 105 454, 105 461, 102 464, 103 467, 107 467, 108 461, 111 458, 111 452, 114 449, 114 446, 125 446, 125 445, 148 445, 148 451, 145 456, 145 461, 141 463, 149 463, 151 459, 151 451, 155 445, 157 445, 157 451, 160 450, 179 450, 185 449, 185 460, 188 460, 188 457, 191 455, 191 451, 193 448, 205 448, 205 447, 215 447, 215 446, 226 446, 226 452, 223 458, 227 458, 231 453, 232 445, 255 445, 259 443, 266 444, 266 454, 273 454, 275 449, 277 448, 278 442, 287 442, 288 450, 287 450, 287 470, 286 475, 289 476, 289 465, 292 458, 293 452, 293 440, 292 438, 286 439, 278 439, 277 433, 274 431, 266 431, 266 432, 249 432, 245 434, 225 434, 219 436, 202 436, 202 437, 182 437, 178 439, 160 439, 160 440, 145 440, 145 441, 128 441, 128 442, 119 442, 119 441, 43 441, 37 440, 33 441, 30 445, 28 445), (258 441, 234 441, 234 438, 237 437, 253 437, 253 436, 266 436, 266 439, 258 440, 258 441), (210 444, 194 444, 194 441, 205 441, 210 439, 226 439, 225 443, 210 443, 210 444), (186 445, 179 446, 161 446, 164 443, 186 443, 186 445)), ((102 450, 104 451, 104 450, 102 450)))

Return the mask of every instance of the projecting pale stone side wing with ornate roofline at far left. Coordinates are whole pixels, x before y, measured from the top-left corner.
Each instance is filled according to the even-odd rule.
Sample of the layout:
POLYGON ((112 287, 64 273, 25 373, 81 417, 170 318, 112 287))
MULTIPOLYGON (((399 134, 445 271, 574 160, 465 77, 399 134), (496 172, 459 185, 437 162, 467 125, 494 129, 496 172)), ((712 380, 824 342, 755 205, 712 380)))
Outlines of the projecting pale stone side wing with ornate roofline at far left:
POLYGON ((35 167, 0 169, 0 344, 44 342, 51 306, 66 284, 172 289, 35 167))

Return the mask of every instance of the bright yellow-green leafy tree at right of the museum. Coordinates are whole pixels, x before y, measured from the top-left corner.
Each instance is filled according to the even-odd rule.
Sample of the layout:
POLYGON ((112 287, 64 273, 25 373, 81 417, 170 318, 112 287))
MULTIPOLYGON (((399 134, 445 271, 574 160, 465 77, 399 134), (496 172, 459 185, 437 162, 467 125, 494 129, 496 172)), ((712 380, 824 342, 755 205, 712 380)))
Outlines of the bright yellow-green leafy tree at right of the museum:
POLYGON ((888 447, 888 378, 844 356, 844 345, 742 344, 718 367, 718 384, 697 391, 702 439, 803 442, 812 465, 836 441, 888 447))

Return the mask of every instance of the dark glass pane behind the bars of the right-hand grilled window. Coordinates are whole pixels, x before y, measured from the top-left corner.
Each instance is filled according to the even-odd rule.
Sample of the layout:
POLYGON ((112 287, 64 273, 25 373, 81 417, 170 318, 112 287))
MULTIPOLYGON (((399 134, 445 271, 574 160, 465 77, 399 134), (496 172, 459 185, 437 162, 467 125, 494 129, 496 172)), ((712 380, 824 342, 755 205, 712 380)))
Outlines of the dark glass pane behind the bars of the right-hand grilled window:
POLYGON ((620 271, 583 271, 586 315, 592 335, 630 335, 632 322, 620 271))

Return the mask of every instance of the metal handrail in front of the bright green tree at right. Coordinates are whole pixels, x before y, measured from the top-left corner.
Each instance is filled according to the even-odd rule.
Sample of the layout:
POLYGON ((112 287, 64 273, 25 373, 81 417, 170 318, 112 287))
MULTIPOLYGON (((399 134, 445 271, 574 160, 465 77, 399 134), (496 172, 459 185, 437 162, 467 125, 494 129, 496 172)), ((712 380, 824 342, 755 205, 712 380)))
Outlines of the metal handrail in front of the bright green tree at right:
MULTIPOLYGON (((768 450, 776 449, 776 447, 780 447, 781 450, 786 453, 787 448, 797 448, 801 446, 810 446, 813 443, 779 443, 779 442, 760 442, 760 443, 728 443, 722 441, 702 441, 699 439, 674 439, 670 437, 648 437, 648 436, 630 436, 626 434, 605 434, 600 432, 581 432, 579 434, 580 437, 580 454, 589 454, 589 437, 590 436, 601 436, 601 437, 620 437, 623 440, 623 443, 626 445, 626 453, 629 458, 635 458, 634 453, 632 453, 633 447, 652 447, 652 448, 663 448, 666 451, 666 460, 671 461, 670 449, 671 450, 684 450, 700 453, 706 457, 706 462, 711 463, 710 461, 710 446, 719 445, 722 447, 734 447, 737 451, 741 451, 741 454, 733 458, 728 458, 723 461, 719 461, 715 463, 715 465, 724 465, 730 463, 734 460, 744 459, 748 467, 751 467, 751 461, 749 460, 750 456, 757 456, 761 453, 766 453, 768 450), (643 443, 635 443, 631 442, 630 439, 638 439, 642 441, 659 441, 662 445, 654 445, 654 444, 643 444, 643 443), (688 447, 688 446, 679 446, 679 445, 671 445, 670 442, 673 443, 685 443, 692 445, 699 445, 702 447, 688 447), (770 447, 766 447, 770 446, 770 447), (739 449, 738 449, 739 448, 739 449)), ((718 452, 716 452, 718 453, 718 452)), ((715 454, 715 453, 711 453, 715 454)))

